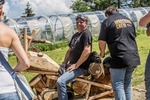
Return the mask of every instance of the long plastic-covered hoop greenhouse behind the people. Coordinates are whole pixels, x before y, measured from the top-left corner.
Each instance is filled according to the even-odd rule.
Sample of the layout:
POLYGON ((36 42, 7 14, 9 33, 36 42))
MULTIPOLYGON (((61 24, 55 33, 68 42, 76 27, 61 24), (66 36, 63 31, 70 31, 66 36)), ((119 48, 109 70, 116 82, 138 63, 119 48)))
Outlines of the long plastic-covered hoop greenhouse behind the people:
MULTIPOLYGON (((150 7, 119 9, 119 13, 130 18, 136 28, 139 27, 138 22, 140 18, 148 11, 150 11, 150 7)), ((101 23, 106 18, 104 11, 6 19, 4 23, 13 28, 18 35, 23 33, 24 27, 27 27, 28 35, 31 35, 33 30, 36 31, 34 39, 58 42, 61 40, 70 40, 72 35, 77 31, 76 16, 78 14, 84 14, 88 17, 89 30, 93 36, 98 36, 101 23)))

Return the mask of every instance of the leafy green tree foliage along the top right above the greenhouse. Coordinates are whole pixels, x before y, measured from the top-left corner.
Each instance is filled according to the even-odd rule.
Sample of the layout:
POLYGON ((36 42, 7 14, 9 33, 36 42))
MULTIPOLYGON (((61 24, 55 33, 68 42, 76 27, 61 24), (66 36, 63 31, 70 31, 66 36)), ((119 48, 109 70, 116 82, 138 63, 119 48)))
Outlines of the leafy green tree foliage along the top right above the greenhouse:
POLYGON ((70 8, 74 12, 105 10, 109 6, 118 8, 150 6, 150 0, 76 0, 70 8))

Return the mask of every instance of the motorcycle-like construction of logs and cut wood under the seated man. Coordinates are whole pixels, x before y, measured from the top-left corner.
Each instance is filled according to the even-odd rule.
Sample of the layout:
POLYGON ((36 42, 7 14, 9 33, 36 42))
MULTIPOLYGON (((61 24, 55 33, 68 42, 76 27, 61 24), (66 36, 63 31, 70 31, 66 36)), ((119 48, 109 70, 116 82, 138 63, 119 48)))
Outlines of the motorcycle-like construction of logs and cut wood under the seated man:
MULTIPOLYGON (((24 49, 30 59, 31 67, 28 72, 38 73, 29 82, 38 100, 57 100, 57 79, 60 68, 53 59, 41 52, 28 51, 32 36, 27 36, 27 29, 24 29, 24 49)), ((67 85, 69 100, 98 100, 113 97, 113 90, 110 84, 109 60, 103 63, 93 62, 88 69, 88 75, 75 78, 67 85)))

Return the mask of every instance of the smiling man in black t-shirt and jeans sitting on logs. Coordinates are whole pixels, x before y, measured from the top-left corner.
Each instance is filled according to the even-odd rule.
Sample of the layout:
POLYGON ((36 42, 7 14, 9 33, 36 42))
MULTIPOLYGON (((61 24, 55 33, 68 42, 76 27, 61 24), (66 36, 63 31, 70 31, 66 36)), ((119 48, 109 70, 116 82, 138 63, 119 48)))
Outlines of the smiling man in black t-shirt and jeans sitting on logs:
POLYGON ((76 18, 78 32, 72 36, 69 49, 61 65, 66 71, 57 80, 59 100, 68 100, 67 83, 75 77, 87 73, 90 64, 88 57, 92 51, 92 33, 87 29, 87 25, 88 18, 78 15, 76 18))

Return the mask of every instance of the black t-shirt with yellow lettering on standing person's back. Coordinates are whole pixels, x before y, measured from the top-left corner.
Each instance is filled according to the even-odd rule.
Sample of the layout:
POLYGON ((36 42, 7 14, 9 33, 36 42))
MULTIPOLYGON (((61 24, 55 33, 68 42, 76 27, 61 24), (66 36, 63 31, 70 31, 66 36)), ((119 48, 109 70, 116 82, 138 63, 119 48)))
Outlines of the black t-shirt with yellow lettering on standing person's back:
POLYGON ((116 13, 104 20, 99 40, 108 44, 112 68, 135 67, 140 64, 135 37, 135 26, 127 17, 116 13))

